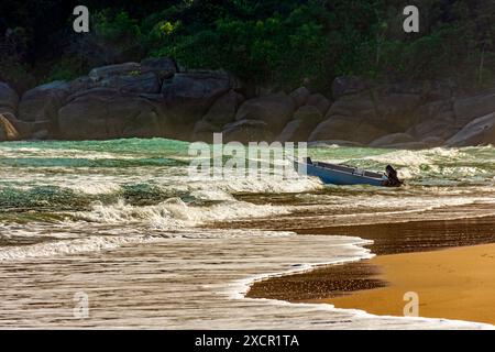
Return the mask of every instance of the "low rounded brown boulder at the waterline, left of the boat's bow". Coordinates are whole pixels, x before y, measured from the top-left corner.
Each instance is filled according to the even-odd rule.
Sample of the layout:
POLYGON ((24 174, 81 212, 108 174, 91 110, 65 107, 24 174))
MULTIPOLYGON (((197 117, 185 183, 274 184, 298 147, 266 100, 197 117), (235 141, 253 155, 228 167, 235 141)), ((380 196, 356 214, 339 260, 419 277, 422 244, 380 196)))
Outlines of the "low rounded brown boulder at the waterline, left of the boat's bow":
POLYGON ((240 120, 227 124, 223 128, 223 142, 271 142, 273 134, 267 128, 267 123, 261 120, 240 120))

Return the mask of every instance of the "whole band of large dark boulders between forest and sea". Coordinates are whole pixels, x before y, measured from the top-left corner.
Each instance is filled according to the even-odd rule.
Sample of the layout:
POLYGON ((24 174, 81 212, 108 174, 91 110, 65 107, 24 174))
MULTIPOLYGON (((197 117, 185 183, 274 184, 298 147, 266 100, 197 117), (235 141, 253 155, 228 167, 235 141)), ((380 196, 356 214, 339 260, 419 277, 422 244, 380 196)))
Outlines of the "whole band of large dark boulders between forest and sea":
POLYGON ((0 141, 168 138, 308 141, 425 148, 495 144, 495 87, 374 84, 339 77, 332 91, 245 86, 222 70, 168 58, 94 68, 20 95, 0 82, 0 141))

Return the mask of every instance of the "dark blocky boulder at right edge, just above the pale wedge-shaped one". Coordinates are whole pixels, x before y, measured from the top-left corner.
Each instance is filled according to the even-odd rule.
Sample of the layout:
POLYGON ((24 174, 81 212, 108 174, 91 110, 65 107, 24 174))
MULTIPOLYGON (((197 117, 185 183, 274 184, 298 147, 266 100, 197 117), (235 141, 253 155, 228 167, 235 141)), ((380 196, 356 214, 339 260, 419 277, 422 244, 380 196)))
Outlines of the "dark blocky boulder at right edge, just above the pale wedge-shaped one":
POLYGON ((458 99, 453 109, 459 127, 464 127, 475 118, 495 112, 495 92, 458 99))

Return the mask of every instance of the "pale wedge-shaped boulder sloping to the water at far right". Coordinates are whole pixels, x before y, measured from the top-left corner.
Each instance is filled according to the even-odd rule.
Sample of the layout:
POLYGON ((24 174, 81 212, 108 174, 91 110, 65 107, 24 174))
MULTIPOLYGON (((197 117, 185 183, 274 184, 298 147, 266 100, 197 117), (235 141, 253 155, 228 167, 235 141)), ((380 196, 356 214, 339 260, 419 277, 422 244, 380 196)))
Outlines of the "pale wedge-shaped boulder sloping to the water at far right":
POLYGON ((449 146, 495 144, 495 112, 471 121, 446 144, 449 146))

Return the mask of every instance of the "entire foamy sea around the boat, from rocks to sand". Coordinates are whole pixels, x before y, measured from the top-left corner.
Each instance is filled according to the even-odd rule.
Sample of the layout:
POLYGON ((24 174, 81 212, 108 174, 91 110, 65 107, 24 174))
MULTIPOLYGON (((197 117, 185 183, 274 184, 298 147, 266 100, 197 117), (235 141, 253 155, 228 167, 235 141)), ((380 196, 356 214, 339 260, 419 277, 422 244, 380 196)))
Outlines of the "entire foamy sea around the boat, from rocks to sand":
POLYGON ((490 328, 244 294, 271 275, 373 256, 359 237, 286 228, 495 215, 494 147, 308 152, 375 170, 393 164, 403 188, 202 179, 188 175, 187 151, 163 139, 1 143, 0 326, 490 328), (81 294, 84 318, 74 315, 81 294))

